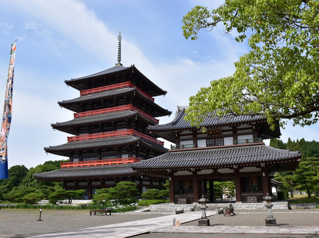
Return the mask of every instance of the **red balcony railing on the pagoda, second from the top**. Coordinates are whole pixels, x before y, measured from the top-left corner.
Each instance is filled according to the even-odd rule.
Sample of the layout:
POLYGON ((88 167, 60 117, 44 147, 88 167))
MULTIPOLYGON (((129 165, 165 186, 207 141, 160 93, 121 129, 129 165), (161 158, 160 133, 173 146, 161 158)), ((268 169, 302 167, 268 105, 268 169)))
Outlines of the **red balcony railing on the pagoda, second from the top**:
POLYGON ((139 114, 146 117, 147 119, 150 119, 151 121, 157 124, 159 123, 159 119, 156 119, 155 117, 147 114, 144 111, 138 110, 138 108, 134 107, 132 104, 112 107, 112 108, 104 108, 99 110, 86 111, 86 112, 78 112, 78 113, 73 113, 73 115, 74 115, 74 118, 80 118, 84 116, 96 116, 96 115, 101 115, 106 113, 121 112, 121 111, 128 111, 128 110, 138 111, 139 114))

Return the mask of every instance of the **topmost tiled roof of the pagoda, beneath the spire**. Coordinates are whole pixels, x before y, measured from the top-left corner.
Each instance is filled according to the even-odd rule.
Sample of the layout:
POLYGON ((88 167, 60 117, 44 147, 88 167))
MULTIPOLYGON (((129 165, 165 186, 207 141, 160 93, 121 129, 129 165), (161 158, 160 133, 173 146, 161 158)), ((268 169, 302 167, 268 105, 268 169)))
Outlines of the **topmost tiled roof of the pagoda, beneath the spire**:
POLYGON ((148 85, 147 89, 144 87, 141 89, 147 92, 148 94, 150 94, 152 97, 167 94, 167 91, 164 91, 163 89, 159 88, 156 84, 154 84, 152 81, 150 81, 134 65, 131 65, 130 67, 115 66, 107 70, 103 70, 99 73, 91 74, 91 75, 84 76, 77 79, 65 80, 64 82, 73 88, 77 88, 78 90, 83 90, 83 89, 88 89, 87 84, 84 83, 85 81, 88 81, 94 78, 100 78, 100 77, 105 78, 105 77, 116 75, 116 74, 123 74, 125 72, 130 72, 130 73, 134 72, 134 74, 138 74, 139 77, 137 80, 142 81, 143 85, 145 84, 148 85))

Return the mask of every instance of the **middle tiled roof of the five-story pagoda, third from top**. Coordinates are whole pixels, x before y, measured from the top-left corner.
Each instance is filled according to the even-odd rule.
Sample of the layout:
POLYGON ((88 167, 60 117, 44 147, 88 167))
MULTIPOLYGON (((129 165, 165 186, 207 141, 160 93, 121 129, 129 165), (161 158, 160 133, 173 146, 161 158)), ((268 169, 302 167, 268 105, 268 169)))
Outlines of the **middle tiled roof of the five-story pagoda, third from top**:
POLYGON ((121 111, 121 112, 108 113, 103 115, 75 118, 67 122, 56 122, 55 124, 51 124, 51 126, 54 129, 61 130, 61 131, 75 135, 78 132, 78 130, 74 128, 75 126, 90 125, 90 124, 96 124, 96 123, 108 122, 108 121, 116 121, 121 119, 133 118, 136 116, 138 116, 140 120, 143 120, 145 123, 152 124, 152 125, 156 124, 150 119, 147 119, 143 115, 139 114, 138 111, 121 111))

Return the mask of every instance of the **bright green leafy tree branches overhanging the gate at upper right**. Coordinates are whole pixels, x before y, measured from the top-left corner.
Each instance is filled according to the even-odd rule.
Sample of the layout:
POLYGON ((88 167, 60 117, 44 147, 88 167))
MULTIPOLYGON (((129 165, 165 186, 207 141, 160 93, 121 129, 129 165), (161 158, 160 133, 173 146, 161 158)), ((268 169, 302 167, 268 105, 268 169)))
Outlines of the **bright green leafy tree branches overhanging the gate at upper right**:
POLYGON ((319 111, 319 1, 226 0, 211 11, 195 6, 183 17, 183 35, 219 23, 235 40, 248 38, 250 52, 233 75, 214 80, 189 99, 186 119, 200 127, 205 116, 261 115, 271 128, 312 125, 319 111))

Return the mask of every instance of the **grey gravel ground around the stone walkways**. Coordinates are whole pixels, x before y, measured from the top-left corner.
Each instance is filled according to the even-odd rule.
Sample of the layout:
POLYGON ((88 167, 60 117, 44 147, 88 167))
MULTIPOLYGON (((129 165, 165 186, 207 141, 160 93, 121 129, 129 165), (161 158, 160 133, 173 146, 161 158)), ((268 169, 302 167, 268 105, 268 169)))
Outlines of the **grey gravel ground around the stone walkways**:
MULTIPOLYGON (((319 226, 319 210, 305 209, 305 212, 289 212, 289 213, 274 213, 278 226, 319 226)), ((236 213, 236 211, 235 211, 236 213)), ((160 213, 112 213, 111 216, 92 215, 90 216, 88 210, 46 210, 43 209, 41 213, 41 220, 38 209, 2 209, 0 210, 0 237, 2 238, 20 238, 35 235, 43 235, 48 233, 63 232, 78 230, 83 228, 98 227, 109 224, 116 224, 126 221, 137 221, 153 217, 165 216, 160 213)), ((177 215, 178 216, 178 215, 177 215)), ((223 215, 213 215, 208 217, 211 226, 264 226, 267 213, 252 213, 246 214, 238 212, 231 217, 224 217, 223 215)), ((198 221, 192 221, 182 226, 197 226, 198 221)), ((201 238, 244 238, 244 235, 200 235, 201 238)), ((138 238, 195 238, 198 234, 159 234, 151 233, 139 235, 138 238)), ((258 237, 298 237, 300 235, 245 235, 245 238, 258 237)), ((319 236, 302 236, 305 238, 319 237, 319 236)))

